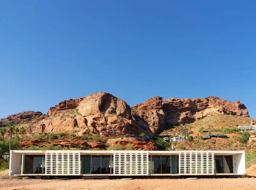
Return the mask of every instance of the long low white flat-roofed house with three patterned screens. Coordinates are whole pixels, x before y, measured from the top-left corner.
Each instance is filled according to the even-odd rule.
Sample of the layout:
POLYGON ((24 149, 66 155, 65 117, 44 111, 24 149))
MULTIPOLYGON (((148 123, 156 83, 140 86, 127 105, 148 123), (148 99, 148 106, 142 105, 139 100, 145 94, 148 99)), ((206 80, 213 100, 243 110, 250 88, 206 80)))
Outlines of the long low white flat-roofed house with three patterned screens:
POLYGON ((241 176, 244 151, 11 150, 11 176, 241 176))

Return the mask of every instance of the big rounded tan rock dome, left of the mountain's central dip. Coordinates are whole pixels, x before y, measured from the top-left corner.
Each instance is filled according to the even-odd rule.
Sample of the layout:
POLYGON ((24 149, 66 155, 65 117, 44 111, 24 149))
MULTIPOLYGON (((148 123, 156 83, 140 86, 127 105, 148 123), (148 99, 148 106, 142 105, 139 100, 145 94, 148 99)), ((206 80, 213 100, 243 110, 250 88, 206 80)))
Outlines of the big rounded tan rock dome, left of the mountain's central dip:
POLYGON ((114 129, 124 134, 137 134, 131 108, 125 101, 106 92, 62 101, 51 107, 47 115, 49 118, 41 121, 38 127, 40 132, 78 131, 76 135, 83 135, 114 129))

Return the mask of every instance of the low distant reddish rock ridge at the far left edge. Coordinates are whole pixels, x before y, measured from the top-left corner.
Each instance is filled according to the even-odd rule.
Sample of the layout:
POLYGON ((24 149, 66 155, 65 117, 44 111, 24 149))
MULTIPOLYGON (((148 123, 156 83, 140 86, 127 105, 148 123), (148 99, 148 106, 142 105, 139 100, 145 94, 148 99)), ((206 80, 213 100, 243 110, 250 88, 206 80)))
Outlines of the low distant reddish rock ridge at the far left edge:
POLYGON ((21 112, 14 115, 9 115, 7 118, 1 119, 1 123, 3 125, 7 124, 21 124, 21 123, 28 123, 28 122, 36 122, 46 118, 45 114, 41 112, 21 112))

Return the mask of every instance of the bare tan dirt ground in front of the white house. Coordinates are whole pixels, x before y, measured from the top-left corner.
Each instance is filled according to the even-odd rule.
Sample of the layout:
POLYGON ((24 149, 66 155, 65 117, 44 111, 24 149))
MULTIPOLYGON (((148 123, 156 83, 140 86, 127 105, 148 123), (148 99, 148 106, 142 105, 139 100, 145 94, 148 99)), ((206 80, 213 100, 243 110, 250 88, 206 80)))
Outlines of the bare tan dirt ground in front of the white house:
POLYGON ((5 179, 0 190, 256 190, 256 178, 5 179))

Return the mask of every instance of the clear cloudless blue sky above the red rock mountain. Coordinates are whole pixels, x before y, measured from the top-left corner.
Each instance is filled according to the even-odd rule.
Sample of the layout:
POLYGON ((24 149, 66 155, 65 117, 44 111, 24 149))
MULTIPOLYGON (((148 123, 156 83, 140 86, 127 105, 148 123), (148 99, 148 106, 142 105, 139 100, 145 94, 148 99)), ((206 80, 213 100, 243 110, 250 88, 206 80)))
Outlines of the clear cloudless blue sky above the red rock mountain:
POLYGON ((0 118, 99 91, 218 96, 256 118, 255 82, 255 0, 0 0, 0 118))

